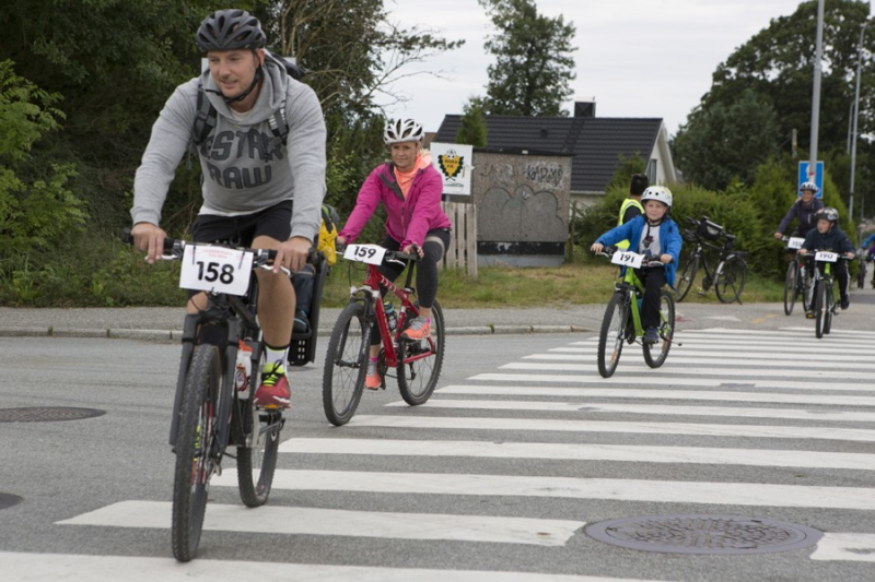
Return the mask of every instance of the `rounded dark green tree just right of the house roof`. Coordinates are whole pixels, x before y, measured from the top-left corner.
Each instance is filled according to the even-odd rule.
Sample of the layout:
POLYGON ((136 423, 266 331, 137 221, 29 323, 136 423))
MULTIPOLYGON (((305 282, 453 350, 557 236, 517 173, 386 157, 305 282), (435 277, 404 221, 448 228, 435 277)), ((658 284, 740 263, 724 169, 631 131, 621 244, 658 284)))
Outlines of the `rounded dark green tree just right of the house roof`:
POLYGON ((751 183, 757 168, 779 151, 778 115, 766 97, 745 90, 731 104, 696 111, 673 142, 684 177, 711 190, 734 178, 751 183))

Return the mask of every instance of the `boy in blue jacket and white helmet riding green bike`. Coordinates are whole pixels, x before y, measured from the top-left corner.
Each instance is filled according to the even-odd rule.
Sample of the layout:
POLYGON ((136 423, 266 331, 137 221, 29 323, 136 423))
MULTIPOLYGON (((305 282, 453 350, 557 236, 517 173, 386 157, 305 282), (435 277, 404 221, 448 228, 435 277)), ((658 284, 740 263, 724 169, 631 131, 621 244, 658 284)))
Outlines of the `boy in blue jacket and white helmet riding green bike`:
POLYGON ((644 284, 644 299, 641 304, 641 325, 644 328, 644 343, 660 341, 660 295, 663 285, 675 286, 675 273, 684 240, 677 223, 668 213, 672 210, 672 191, 663 186, 651 186, 641 195, 644 214, 626 224, 611 228, 593 244, 590 250, 602 252, 606 246, 620 240, 630 240, 630 249, 643 254, 646 260, 658 261, 663 266, 642 266, 635 275, 644 284))

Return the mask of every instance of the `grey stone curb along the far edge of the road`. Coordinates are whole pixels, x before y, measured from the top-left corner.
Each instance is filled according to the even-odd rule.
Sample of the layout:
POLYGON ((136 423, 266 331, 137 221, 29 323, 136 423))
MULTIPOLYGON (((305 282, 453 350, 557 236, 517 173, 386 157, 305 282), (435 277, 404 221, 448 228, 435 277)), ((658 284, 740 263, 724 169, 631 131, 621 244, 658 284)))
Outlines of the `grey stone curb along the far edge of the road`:
MULTIPOLYGON (((446 335, 526 335, 529 333, 590 333, 593 330, 576 325, 478 325, 447 328, 446 335)), ((97 340, 140 340, 144 342, 174 342, 182 330, 128 330, 86 328, 0 328, 0 337, 88 337, 97 340)), ((319 337, 328 337, 331 330, 320 329, 319 337)))

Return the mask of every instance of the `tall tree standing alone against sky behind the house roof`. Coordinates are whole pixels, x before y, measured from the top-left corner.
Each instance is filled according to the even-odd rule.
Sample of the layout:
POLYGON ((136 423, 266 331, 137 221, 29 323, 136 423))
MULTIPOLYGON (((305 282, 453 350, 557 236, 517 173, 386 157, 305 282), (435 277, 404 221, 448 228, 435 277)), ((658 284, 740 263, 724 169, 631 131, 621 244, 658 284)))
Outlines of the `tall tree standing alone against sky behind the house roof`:
POLYGON ((534 0, 478 1, 498 31, 485 45, 495 57, 489 66, 486 112, 567 116, 561 106, 575 79, 574 25, 561 15, 539 14, 534 0))

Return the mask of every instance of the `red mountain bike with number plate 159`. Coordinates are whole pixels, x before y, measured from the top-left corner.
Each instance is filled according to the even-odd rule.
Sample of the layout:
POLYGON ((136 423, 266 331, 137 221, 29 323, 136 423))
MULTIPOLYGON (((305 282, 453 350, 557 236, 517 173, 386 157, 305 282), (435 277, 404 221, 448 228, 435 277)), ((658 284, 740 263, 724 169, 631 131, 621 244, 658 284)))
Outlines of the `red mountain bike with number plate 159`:
POLYGON ((383 378, 381 389, 386 388, 388 370, 395 369, 398 391, 411 406, 429 400, 444 359, 444 316, 436 300, 431 308, 430 337, 419 341, 401 337, 409 322, 419 316, 411 286, 419 256, 386 250, 377 245, 348 245, 343 259, 350 261, 350 273, 353 265, 363 265, 364 281, 360 287, 351 286, 350 301, 335 323, 325 356, 323 407, 328 421, 335 426, 349 423, 359 406, 372 334, 378 333, 381 340, 377 358, 377 370, 383 378), (384 261, 406 266, 404 288, 377 271, 384 261), (397 320, 386 316, 381 287, 398 300, 397 320))

